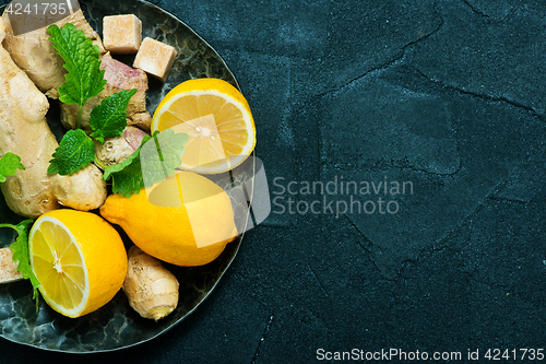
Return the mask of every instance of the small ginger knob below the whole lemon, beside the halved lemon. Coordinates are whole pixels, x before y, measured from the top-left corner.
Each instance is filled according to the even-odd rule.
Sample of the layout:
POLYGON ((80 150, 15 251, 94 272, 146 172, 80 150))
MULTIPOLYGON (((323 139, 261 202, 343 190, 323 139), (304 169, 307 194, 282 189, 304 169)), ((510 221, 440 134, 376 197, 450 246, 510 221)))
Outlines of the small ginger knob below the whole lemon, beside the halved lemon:
POLYGON ((144 318, 159 320, 178 305, 178 281, 159 260, 132 246, 128 253, 123 292, 131 307, 144 318))

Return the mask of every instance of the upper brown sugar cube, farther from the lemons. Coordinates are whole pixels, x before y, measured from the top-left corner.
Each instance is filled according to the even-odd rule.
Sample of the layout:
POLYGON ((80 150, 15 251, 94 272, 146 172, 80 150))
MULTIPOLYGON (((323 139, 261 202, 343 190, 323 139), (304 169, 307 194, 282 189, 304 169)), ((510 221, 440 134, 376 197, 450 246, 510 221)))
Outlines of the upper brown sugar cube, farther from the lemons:
POLYGON ((112 54, 135 54, 142 42, 142 22, 133 14, 105 16, 103 40, 112 54))

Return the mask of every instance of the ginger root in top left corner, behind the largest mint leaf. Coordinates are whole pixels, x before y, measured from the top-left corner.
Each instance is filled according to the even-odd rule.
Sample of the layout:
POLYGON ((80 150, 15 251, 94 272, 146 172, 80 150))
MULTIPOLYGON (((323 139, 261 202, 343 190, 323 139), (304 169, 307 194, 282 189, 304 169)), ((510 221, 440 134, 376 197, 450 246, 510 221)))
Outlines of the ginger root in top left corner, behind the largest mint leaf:
MULTIPOLYGON (((28 74, 41 92, 51 98, 58 98, 57 89, 64 82, 67 70, 62 67, 62 59, 58 57, 51 42, 48 42, 47 26, 15 35, 10 14, 4 12, 2 20, 5 27, 3 46, 13 61, 28 74)), ((100 37, 87 23, 81 9, 55 24, 62 27, 67 23, 72 23, 76 28, 84 31, 85 36, 92 38, 93 43, 98 46, 100 54, 105 52, 100 37)))

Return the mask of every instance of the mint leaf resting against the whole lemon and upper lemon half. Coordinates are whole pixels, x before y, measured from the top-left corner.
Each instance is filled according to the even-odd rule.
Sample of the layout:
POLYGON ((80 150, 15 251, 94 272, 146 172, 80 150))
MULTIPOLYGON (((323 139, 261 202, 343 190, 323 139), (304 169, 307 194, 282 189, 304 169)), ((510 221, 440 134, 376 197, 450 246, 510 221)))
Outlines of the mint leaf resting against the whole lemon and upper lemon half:
POLYGON ((144 137, 141 145, 126 161, 106 167, 104 180, 111 177, 112 192, 124 197, 166 179, 180 166, 188 134, 167 129, 144 137))

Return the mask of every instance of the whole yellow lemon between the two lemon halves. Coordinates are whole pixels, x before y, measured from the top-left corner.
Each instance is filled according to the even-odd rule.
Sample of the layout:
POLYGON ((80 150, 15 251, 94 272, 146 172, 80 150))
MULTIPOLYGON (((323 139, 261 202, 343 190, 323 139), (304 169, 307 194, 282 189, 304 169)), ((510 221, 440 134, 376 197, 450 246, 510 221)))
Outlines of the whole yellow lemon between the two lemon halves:
POLYGON ((129 198, 110 195, 100 214, 143 251, 177 266, 211 262, 238 234, 227 193, 192 172, 179 172, 129 198))

